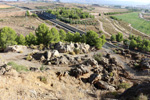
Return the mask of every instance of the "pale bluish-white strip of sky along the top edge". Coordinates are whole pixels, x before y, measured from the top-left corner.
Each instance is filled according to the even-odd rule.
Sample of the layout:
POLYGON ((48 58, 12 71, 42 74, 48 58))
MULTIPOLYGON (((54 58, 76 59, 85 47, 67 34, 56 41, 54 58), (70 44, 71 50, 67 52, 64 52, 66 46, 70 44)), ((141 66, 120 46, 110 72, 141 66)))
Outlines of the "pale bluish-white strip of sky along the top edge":
POLYGON ((150 0, 60 0, 62 2, 74 3, 94 3, 94 4, 113 4, 113 5, 148 5, 150 0))

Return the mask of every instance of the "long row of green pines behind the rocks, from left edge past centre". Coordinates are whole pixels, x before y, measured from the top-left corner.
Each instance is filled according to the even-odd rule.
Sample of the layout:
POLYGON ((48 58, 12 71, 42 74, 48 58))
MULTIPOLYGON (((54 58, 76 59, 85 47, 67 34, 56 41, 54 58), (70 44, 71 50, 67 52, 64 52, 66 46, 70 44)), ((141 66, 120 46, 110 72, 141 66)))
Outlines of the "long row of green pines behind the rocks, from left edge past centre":
POLYGON ((100 49, 106 42, 105 35, 99 37, 94 31, 88 31, 86 34, 80 33, 66 33, 64 30, 57 30, 45 24, 40 24, 35 30, 35 34, 29 33, 26 36, 22 34, 17 35, 10 27, 3 27, 0 29, 0 49, 3 50, 11 45, 39 45, 43 44, 49 46, 51 43, 58 43, 59 41, 67 42, 81 42, 87 43, 100 49))

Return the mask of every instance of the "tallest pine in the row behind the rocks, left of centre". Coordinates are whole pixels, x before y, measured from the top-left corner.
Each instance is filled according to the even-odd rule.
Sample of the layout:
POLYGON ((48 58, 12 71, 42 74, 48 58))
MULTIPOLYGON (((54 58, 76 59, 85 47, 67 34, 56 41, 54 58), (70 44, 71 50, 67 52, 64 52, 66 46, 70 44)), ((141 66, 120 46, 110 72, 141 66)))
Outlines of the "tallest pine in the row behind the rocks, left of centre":
POLYGON ((52 37, 49 27, 45 24, 40 24, 36 29, 35 34, 37 36, 38 44, 47 45, 50 41, 49 38, 52 37))

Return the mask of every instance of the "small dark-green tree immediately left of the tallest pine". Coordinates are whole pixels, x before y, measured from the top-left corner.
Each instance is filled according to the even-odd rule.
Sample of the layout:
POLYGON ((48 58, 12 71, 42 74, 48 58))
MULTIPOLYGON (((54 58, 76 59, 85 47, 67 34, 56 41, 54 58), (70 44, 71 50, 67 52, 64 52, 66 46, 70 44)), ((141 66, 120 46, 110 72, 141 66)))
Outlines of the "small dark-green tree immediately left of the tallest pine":
POLYGON ((25 41, 27 45, 36 45, 37 44, 37 37, 33 33, 29 33, 29 35, 26 35, 25 41))

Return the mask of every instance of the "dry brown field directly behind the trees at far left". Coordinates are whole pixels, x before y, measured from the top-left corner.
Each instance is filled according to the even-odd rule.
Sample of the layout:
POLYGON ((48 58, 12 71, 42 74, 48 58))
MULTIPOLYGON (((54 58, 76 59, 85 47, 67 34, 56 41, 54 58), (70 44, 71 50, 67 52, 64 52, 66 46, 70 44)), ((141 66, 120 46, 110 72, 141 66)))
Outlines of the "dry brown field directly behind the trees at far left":
MULTIPOLYGON (((17 34, 27 35, 30 32, 35 32, 35 29, 41 24, 40 20, 33 17, 1 17, 0 28, 8 26, 16 31, 17 34)), ((50 28, 51 25, 48 25, 50 28)))

